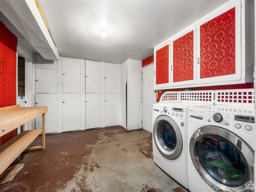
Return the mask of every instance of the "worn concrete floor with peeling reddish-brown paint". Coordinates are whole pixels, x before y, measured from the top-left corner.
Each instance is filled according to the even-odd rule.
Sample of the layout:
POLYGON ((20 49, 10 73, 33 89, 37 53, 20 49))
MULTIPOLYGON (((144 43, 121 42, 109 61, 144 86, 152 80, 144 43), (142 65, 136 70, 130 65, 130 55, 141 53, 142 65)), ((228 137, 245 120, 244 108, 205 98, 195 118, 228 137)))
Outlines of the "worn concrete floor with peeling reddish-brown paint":
POLYGON ((22 153, 0 183, 2 192, 187 191, 153 162, 151 133, 121 126, 48 134, 45 150, 22 153))

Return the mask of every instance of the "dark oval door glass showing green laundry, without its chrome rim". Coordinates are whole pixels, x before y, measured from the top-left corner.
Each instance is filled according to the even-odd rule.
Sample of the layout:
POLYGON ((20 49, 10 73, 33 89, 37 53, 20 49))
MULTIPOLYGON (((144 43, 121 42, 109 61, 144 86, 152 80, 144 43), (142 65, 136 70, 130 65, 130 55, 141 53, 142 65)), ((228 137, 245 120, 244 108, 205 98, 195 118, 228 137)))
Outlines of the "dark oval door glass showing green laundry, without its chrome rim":
POLYGON ((248 167, 236 146, 220 136, 205 136, 197 145, 199 161, 217 182, 237 187, 244 184, 248 167))

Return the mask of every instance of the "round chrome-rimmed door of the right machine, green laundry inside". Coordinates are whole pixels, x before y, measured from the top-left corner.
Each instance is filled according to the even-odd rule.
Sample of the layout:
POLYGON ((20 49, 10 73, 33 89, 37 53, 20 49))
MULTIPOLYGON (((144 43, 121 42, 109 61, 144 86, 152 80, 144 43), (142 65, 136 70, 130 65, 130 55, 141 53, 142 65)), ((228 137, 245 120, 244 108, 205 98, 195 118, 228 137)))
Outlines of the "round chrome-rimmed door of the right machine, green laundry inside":
POLYGON ((198 129, 189 151, 198 173, 216 191, 243 191, 246 183, 253 182, 253 150, 225 129, 198 129))

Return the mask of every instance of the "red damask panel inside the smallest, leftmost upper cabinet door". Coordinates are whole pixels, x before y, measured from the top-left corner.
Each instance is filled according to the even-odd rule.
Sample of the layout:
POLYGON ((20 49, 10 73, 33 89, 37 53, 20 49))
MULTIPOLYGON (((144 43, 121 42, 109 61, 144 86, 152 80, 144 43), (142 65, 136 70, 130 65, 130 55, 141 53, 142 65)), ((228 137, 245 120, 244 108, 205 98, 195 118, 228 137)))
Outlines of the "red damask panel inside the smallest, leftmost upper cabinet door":
POLYGON ((169 45, 156 51, 156 84, 169 83, 169 45))

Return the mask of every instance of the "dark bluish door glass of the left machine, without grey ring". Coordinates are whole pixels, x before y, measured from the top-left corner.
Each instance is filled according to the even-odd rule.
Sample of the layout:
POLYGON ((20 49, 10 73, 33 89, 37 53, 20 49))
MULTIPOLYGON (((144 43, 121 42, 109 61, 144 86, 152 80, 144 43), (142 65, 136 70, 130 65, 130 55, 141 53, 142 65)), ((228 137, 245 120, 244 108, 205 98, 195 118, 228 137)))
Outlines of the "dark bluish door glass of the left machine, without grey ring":
POLYGON ((177 145, 176 132, 173 126, 167 122, 162 121, 157 128, 157 137, 161 146, 166 151, 173 151, 177 145))

